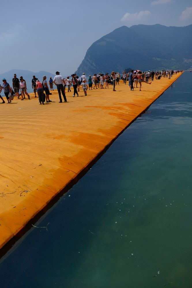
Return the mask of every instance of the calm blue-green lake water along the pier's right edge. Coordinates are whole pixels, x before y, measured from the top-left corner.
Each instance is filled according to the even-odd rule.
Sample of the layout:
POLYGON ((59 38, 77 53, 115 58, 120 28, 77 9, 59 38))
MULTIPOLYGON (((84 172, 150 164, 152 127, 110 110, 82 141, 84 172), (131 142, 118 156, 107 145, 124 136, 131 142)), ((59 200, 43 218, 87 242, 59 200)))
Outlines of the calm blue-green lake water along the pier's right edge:
POLYGON ((0 287, 192 287, 191 77, 34 223, 48 231, 32 227, 3 257, 0 287))

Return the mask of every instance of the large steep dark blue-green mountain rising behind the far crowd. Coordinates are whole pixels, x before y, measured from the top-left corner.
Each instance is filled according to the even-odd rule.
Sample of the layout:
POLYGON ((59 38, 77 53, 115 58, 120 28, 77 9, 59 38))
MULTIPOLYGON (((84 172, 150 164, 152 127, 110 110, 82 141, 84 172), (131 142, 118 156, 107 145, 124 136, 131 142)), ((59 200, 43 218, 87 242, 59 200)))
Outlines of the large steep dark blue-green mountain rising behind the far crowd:
POLYGON ((93 75, 126 67, 139 70, 189 69, 192 66, 192 25, 122 26, 94 42, 75 72, 93 75))

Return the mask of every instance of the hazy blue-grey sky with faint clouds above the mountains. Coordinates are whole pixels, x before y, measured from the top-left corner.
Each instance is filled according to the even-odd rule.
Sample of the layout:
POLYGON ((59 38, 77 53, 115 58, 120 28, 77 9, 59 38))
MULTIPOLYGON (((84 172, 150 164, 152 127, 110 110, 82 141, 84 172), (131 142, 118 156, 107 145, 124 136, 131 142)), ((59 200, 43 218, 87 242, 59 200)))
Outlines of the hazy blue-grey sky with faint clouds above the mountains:
POLYGON ((192 24, 192 1, 1 1, 0 73, 58 70, 67 76, 103 35, 123 25, 156 23, 192 24))

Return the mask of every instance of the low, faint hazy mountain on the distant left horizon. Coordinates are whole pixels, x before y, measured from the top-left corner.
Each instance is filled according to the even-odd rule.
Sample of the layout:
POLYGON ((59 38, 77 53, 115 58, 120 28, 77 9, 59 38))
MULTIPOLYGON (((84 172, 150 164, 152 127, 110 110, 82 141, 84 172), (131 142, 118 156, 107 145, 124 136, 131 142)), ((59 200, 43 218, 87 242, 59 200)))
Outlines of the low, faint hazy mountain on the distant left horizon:
POLYGON ((47 71, 32 72, 28 70, 12 69, 8 72, 0 74, 0 80, 2 80, 3 78, 10 80, 13 78, 13 74, 15 73, 17 74, 17 78, 23 76, 24 79, 32 79, 33 75, 35 75, 35 77, 37 77, 38 79, 42 79, 44 75, 46 75, 47 78, 55 76, 54 74, 51 74, 47 71))

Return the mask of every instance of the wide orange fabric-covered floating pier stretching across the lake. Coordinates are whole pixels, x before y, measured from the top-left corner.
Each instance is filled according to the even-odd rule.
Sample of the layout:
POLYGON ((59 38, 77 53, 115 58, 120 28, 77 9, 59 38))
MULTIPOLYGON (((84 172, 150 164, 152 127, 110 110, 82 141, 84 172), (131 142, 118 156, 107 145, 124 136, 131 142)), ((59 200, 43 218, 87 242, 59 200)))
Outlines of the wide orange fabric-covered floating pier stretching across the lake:
POLYGON ((66 92, 67 103, 58 103, 54 90, 52 102, 44 106, 34 94, 30 100, 15 97, 11 104, 1 104, 1 251, 180 75, 142 83, 142 91, 130 91, 128 83, 120 82, 116 92, 111 85, 88 89, 87 96, 80 89, 75 98, 66 92))

